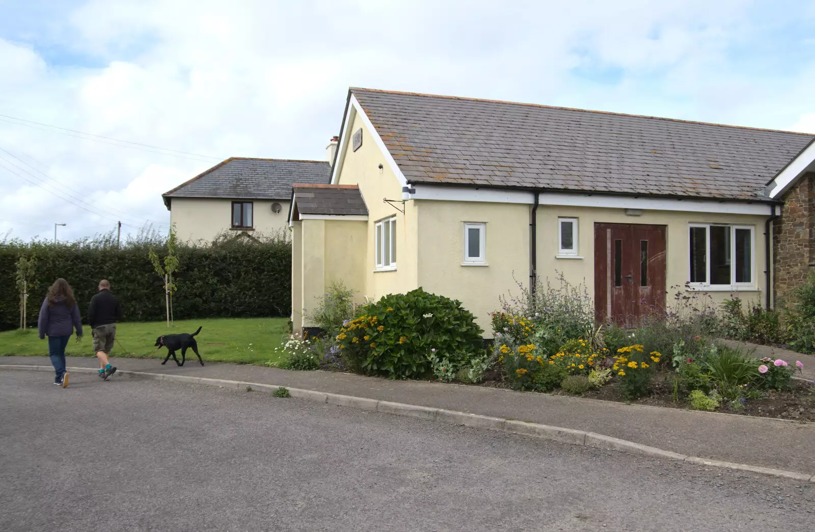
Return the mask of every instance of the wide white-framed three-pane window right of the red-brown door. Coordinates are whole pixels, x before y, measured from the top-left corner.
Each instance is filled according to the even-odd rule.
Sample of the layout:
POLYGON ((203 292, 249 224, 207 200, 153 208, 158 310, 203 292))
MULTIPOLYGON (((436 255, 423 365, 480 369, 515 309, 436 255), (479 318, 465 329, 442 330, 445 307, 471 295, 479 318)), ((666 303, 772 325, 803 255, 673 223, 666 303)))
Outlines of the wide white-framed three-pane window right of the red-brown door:
POLYGON ((689 235, 692 285, 753 285, 752 227, 693 225, 689 235))

